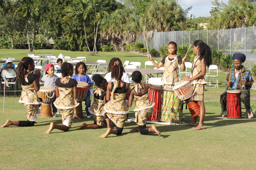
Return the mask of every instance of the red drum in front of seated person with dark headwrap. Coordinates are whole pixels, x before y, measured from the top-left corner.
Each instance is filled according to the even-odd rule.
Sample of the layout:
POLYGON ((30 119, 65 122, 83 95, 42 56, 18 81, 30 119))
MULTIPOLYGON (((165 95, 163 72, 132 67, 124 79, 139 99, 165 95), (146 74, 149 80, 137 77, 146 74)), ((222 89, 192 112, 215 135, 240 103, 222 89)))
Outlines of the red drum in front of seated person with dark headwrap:
POLYGON ((241 118, 241 91, 227 90, 227 118, 241 118))

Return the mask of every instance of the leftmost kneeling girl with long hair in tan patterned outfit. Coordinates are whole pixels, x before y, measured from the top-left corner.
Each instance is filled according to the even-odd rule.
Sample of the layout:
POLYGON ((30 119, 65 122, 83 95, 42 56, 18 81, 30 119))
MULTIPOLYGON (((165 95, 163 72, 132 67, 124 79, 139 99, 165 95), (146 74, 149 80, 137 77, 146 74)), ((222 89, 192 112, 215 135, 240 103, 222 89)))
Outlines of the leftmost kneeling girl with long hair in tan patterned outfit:
POLYGON ((30 71, 35 69, 35 64, 32 58, 24 57, 16 68, 17 78, 22 85, 22 94, 20 95, 19 103, 22 103, 27 108, 27 121, 10 121, 1 126, 8 127, 10 125, 29 127, 34 126, 36 114, 40 113, 38 105, 41 104, 36 91, 40 89, 39 79, 41 76, 40 70, 36 70, 35 74, 30 71))

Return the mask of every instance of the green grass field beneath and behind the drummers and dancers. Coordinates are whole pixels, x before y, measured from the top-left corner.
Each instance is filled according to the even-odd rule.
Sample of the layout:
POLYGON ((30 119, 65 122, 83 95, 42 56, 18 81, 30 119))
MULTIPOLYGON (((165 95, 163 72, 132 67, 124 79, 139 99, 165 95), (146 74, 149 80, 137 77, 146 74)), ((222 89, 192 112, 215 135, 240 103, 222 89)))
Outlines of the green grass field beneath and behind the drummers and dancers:
MULTIPOLYGON (((21 59, 28 50, 0 50, 1 58, 21 59)), ((35 54, 63 53, 65 56, 86 56, 87 61, 120 57, 140 61, 144 68, 146 57, 132 53, 99 53, 97 58, 84 52, 57 50, 35 50, 35 54)), ((160 61, 160 60, 157 60, 160 61)), ((120 136, 109 135, 102 129, 76 130, 83 122, 93 124, 90 119, 74 119, 68 132, 53 130, 44 134, 49 124, 61 124, 61 117, 41 118, 37 116, 34 127, 0 128, 0 169, 255 169, 256 119, 228 119, 220 116, 220 94, 224 91, 226 74, 219 73, 219 88, 206 88, 204 119, 205 130, 193 131, 184 125, 156 124, 161 137, 156 133, 140 135, 133 129, 135 123, 126 121, 120 136)), ((20 92, 19 92, 20 95, 20 92)), ((256 109, 256 90, 251 90, 251 107, 256 109), (254 100, 253 100, 254 99, 254 100)), ((13 93, 6 95, 3 112, 3 95, 0 95, 0 125, 7 119, 26 120, 26 109, 18 103, 13 93)), ((242 104, 243 106, 243 104, 242 104)), ((84 106, 83 106, 84 108, 84 106)), ((134 117, 134 106, 129 118, 134 117)), ((183 121, 191 121, 188 110, 183 110, 183 121)), ((151 124, 147 124, 150 127, 151 124)))

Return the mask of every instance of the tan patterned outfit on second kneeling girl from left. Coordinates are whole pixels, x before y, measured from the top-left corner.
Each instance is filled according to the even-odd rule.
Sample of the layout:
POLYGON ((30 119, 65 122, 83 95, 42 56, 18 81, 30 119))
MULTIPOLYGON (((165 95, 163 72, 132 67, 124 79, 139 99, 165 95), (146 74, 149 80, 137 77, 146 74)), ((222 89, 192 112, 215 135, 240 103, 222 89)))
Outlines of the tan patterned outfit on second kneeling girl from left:
MULTIPOLYGON (((57 79, 58 81, 59 79, 57 79)), ((62 81, 65 82, 67 77, 63 77, 62 81)), ((73 79, 70 79, 70 81, 73 79)), ((58 87, 59 96, 56 101, 53 103, 57 109, 61 112, 62 124, 71 127, 74 108, 79 105, 74 99, 73 87, 58 87)))

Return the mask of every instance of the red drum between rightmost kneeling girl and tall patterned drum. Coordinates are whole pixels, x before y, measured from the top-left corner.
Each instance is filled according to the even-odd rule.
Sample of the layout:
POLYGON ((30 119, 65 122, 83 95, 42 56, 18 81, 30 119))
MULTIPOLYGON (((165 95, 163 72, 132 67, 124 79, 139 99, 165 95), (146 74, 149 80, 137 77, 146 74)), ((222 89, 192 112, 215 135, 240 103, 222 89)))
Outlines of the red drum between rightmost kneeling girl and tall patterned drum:
POLYGON ((147 117, 147 120, 159 121, 161 113, 161 91, 148 89, 148 98, 155 103, 153 112, 147 117))

